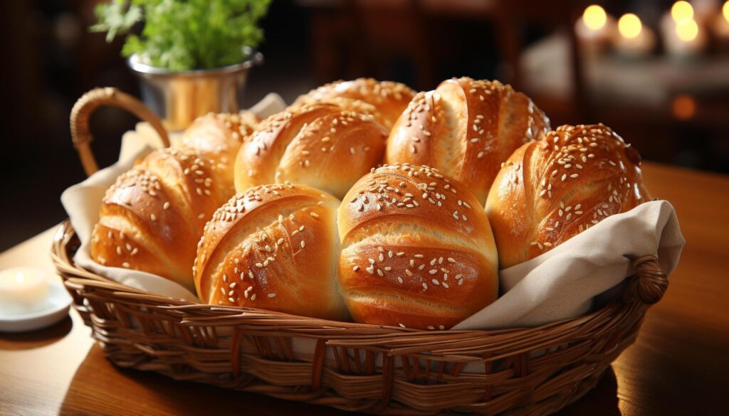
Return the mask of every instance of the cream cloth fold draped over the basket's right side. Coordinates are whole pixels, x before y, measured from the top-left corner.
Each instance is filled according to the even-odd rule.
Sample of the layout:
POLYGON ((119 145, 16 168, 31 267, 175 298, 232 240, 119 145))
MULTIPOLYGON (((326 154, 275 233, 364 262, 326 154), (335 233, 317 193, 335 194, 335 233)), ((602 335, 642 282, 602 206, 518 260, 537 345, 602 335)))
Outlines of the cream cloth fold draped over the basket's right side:
POLYGON ((653 254, 674 271, 686 243, 667 201, 609 216, 527 262, 501 270, 502 297, 453 329, 537 326, 588 312, 593 298, 633 274, 631 259, 653 254))

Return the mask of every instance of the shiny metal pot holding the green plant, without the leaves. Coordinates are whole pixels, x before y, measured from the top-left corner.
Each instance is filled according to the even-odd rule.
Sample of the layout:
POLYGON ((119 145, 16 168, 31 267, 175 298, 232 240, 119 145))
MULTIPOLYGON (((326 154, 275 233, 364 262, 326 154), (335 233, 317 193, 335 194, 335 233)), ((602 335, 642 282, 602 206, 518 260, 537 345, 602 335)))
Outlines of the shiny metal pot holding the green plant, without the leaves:
POLYGON ((184 130, 207 114, 240 109, 248 72, 263 63, 263 55, 246 48, 248 58, 235 65, 196 71, 168 71, 141 63, 139 55, 128 59, 129 68, 141 80, 141 98, 163 119, 168 130, 184 130))

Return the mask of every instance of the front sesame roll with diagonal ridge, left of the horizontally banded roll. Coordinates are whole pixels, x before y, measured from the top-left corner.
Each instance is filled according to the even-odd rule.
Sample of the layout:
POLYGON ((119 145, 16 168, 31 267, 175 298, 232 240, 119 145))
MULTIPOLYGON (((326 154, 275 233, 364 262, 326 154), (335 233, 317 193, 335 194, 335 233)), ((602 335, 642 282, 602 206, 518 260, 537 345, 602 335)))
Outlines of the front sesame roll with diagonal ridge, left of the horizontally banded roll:
POLYGON ((195 260, 203 302, 346 320, 337 287, 339 200, 304 185, 235 195, 206 225, 195 260))

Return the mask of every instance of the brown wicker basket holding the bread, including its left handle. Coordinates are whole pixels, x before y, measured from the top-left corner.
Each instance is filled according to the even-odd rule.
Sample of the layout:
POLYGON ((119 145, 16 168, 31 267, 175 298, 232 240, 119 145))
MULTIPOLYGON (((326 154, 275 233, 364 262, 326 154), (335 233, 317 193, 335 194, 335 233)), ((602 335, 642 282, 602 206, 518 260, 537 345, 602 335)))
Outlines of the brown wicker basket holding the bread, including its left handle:
MULTIPOLYGON (((86 123, 88 109, 101 98, 125 108, 118 97, 133 100, 101 91, 79 100, 72 131, 87 134, 87 126, 73 125, 86 123)), ((74 138, 86 147, 89 141, 74 138)), ((93 173, 95 167, 84 163, 93 173)), ((634 342, 647 308, 668 287, 655 256, 644 256, 634 260, 636 274, 622 296, 588 315, 534 328, 419 331, 161 297, 78 267, 78 247, 66 221, 55 236, 52 260, 74 307, 114 364, 383 415, 556 412, 593 388, 634 342), (307 343, 312 353, 297 350, 307 343)))

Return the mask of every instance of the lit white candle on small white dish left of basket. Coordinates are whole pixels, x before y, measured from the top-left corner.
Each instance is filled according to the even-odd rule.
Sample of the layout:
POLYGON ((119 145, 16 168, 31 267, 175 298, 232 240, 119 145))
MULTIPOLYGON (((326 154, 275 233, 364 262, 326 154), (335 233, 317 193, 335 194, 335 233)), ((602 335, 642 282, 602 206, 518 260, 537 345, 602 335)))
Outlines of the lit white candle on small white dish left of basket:
POLYGON ((45 307, 46 273, 35 267, 15 267, 0 272, 0 312, 28 313, 45 307))

